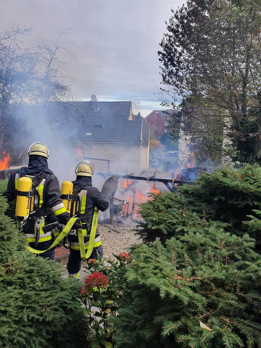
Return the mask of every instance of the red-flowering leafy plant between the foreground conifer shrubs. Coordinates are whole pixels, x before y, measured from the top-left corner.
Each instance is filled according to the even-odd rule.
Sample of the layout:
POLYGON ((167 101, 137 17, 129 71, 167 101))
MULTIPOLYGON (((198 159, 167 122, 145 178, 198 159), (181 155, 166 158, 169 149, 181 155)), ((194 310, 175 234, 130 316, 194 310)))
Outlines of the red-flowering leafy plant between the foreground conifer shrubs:
POLYGON ((117 315, 117 299, 124 296, 124 289, 118 281, 124 274, 125 268, 131 262, 128 253, 113 254, 115 259, 89 259, 88 269, 84 271, 87 277, 80 290, 80 299, 84 304, 86 321, 93 337, 88 338, 92 348, 112 348, 113 338, 111 324, 106 321, 108 316, 117 315), (95 310, 93 310, 95 308, 95 310))

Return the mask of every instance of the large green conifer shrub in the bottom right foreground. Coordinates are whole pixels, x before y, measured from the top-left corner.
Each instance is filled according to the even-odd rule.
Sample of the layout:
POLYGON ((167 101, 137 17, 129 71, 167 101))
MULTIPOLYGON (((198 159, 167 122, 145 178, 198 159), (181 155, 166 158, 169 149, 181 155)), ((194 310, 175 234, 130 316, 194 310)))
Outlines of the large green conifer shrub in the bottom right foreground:
POLYGON ((208 228, 132 247, 114 348, 260 347, 261 256, 247 234, 208 228))

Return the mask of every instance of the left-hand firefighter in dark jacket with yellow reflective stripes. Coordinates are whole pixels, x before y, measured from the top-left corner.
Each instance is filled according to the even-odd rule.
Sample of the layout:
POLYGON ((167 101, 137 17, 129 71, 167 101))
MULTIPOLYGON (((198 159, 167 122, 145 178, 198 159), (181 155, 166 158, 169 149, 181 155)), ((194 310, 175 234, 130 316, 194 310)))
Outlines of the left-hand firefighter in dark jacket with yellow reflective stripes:
MULTIPOLYGON (((46 250, 53 243, 58 231, 54 228, 45 232, 43 227, 59 220, 66 224, 70 214, 66 212, 61 199, 61 190, 57 177, 48 168, 49 151, 44 143, 33 143, 28 151, 28 167, 14 171, 9 178, 7 190, 3 193, 8 201, 17 197, 18 180, 29 177, 35 184, 34 209, 23 227, 24 236, 29 245, 36 250, 46 250)), ((43 258, 55 260, 54 248, 39 254, 43 258)))

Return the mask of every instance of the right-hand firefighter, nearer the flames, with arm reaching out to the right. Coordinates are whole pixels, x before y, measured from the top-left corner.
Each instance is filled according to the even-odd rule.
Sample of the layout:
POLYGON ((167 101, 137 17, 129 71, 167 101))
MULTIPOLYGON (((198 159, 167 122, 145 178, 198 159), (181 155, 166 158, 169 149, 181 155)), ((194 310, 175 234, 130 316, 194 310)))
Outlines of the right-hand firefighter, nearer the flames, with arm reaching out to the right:
MULTIPOLYGON (((109 201, 102 196, 101 192, 92 186, 92 175, 94 173, 94 164, 90 161, 80 162, 75 168, 76 180, 73 181, 73 193, 78 195, 78 205, 82 230, 84 235, 85 251, 88 249, 90 230, 92 227, 94 208, 102 212, 108 209, 109 201)), ((79 277, 81 269, 81 255, 78 237, 69 235, 67 244, 70 245, 70 256, 67 263, 68 277, 79 277)), ((90 259, 98 259, 103 256, 102 242, 100 233, 96 230, 94 247, 90 259)))

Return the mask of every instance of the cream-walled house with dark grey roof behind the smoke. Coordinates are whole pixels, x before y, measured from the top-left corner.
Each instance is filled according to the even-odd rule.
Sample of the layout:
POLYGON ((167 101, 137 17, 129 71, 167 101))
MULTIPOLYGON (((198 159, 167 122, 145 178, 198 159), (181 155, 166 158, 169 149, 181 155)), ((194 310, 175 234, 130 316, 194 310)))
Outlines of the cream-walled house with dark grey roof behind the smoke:
MULTIPOLYGON (((124 102, 59 102, 55 113, 66 110, 71 119, 81 119, 82 126, 62 127, 67 139, 83 157, 111 159, 112 173, 134 173, 148 168, 149 127, 132 119, 132 103, 124 102)), ((95 161, 96 172, 106 172, 106 161, 95 161)))

